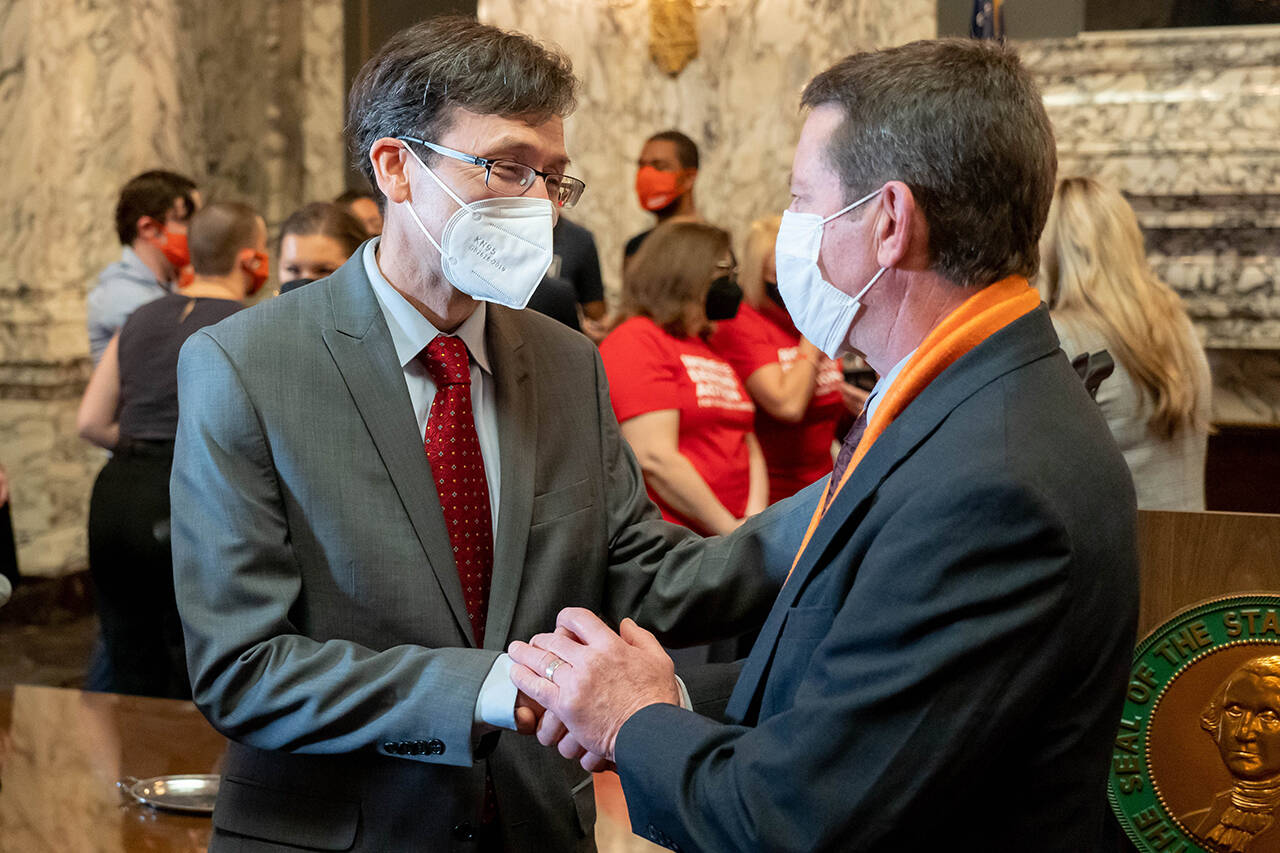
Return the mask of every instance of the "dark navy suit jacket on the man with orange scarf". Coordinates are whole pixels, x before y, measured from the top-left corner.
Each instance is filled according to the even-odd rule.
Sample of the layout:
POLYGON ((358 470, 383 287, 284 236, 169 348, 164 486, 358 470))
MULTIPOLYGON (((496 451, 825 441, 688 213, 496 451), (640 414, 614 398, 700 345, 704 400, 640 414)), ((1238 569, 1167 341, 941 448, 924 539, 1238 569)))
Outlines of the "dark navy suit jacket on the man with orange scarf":
POLYGON ((622 727, 632 829, 684 850, 1098 849, 1135 515, 1042 306, 861 460, 751 651, 733 724, 650 706, 622 727))

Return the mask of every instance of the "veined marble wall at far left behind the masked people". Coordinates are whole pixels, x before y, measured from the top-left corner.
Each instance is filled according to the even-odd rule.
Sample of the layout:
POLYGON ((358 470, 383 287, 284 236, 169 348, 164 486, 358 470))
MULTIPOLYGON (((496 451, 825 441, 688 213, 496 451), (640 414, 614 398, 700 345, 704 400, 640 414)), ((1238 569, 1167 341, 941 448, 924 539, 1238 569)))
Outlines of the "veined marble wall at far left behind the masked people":
POLYGON ((0 465, 28 575, 83 567, 84 297, 148 168, 269 223, 342 190, 340 0, 0 3, 0 465))

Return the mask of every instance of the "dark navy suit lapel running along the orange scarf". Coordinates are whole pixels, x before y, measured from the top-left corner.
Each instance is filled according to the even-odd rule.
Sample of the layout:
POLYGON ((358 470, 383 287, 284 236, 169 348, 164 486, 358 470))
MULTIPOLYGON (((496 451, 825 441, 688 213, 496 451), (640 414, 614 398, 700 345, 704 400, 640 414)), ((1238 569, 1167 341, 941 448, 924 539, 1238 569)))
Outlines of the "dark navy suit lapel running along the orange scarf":
POLYGON ((960 357, 931 382, 904 414, 890 424, 831 502, 795 570, 778 593, 726 707, 730 719, 748 720, 749 715, 758 712, 787 613, 804 592, 808 580, 827 565, 827 552, 847 543, 851 533, 847 523, 861 516, 864 505, 876 494, 881 483, 915 452, 915 448, 924 443, 960 403, 1006 373, 1044 357, 1057 347, 1057 334, 1048 320, 1047 309, 1042 305, 960 357))

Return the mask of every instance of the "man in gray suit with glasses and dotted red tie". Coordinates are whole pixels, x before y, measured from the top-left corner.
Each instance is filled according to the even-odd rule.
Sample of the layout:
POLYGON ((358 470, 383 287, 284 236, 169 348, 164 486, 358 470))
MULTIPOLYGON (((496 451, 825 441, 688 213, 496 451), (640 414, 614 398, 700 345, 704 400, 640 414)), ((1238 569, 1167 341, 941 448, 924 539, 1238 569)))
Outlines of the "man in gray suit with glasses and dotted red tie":
POLYGON ((183 348, 175 585, 193 697, 232 739, 214 850, 593 849, 585 771, 498 736, 541 711, 503 647, 568 605, 704 642, 781 583, 759 566, 794 540, 659 520, 595 347, 513 310, 582 190, 573 88, 470 19, 393 37, 349 110, 381 238, 183 348))

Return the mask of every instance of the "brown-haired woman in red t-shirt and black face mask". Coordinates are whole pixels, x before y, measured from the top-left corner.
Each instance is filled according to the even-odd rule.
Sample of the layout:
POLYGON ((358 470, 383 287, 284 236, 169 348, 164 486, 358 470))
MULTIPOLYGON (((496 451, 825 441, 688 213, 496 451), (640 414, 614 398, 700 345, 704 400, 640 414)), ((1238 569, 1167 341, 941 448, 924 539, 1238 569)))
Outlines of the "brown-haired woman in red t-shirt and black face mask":
POLYGON ((650 497, 663 517, 703 534, 728 533, 768 503, 755 406, 705 342, 708 293, 732 269, 719 228, 659 225, 627 264, 626 319, 600 345, 613 411, 650 497))

